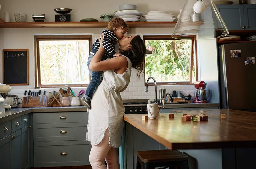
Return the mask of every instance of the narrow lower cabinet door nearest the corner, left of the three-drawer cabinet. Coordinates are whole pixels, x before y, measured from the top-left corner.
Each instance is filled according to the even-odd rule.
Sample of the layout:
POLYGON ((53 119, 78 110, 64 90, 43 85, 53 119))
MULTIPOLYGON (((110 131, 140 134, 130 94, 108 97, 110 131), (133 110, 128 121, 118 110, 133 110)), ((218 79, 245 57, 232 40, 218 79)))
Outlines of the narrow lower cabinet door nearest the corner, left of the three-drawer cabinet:
POLYGON ((30 134, 29 134, 29 127, 28 125, 21 128, 21 138, 22 138, 22 147, 21 147, 21 168, 27 169, 30 168, 30 148, 29 148, 29 142, 30 142, 30 134))

